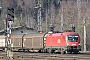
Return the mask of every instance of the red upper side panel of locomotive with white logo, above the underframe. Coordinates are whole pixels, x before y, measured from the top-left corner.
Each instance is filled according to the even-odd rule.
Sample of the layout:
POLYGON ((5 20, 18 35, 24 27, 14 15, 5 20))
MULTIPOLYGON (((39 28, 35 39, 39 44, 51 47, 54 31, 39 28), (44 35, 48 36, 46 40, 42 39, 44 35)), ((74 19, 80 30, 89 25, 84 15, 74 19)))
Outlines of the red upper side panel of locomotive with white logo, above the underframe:
POLYGON ((46 46, 66 46, 66 41, 62 33, 49 34, 47 36, 46 46))

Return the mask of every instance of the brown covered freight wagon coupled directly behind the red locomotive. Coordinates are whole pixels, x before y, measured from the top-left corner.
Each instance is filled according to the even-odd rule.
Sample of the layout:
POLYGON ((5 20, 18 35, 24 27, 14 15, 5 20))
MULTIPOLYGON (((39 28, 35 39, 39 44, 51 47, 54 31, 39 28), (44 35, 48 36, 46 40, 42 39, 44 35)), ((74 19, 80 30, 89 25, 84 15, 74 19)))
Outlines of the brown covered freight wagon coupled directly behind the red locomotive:
POLYGON ((28 50, 42 50, 44 48, 44 34, 26 34, 23 37, 23 48, 28 50))

